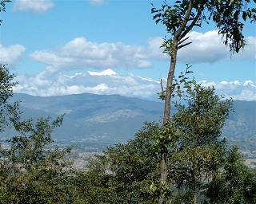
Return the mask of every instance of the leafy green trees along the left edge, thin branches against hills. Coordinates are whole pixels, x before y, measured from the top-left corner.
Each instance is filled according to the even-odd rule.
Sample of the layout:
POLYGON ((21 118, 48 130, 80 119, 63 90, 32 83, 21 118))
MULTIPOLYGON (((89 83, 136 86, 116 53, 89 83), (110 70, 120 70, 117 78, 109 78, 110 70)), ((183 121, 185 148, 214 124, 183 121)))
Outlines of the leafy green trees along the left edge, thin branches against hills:
POLYGON ((63 116, 22 120, 18 102, 9 103, 14 75, 0 68, 0 131, 9 125, 17 134, 0 146, 0 203, 74 203, 70 148, 54 147, 51 136, 63 116))

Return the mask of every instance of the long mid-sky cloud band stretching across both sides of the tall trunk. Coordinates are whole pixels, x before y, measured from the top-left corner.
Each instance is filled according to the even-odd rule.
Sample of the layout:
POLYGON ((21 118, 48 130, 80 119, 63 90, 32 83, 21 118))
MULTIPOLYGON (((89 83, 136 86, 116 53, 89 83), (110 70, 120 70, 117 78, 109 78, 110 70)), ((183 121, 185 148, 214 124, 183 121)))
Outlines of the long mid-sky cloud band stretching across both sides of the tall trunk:
MULTIPOLYGON (((192 44, 178 50, 178 61, 182 63, 214 63, 230 60, 229 48, 222 43, 217 30, 206 33, 191 32, 188 34, 192 44)), ((256 37, 246 37, 247 45, 232 59, 254 60, 256 37)), ((151 67, 151 60, 168 61, 170 56, 162 53, 162 37, 148 39, 147 45, 125 45, 122 42, 101 43, 87 41, 77 37, 57 49, 37 50, 30 54, 35 61, 48 66, 47 71, 57 73, 74 69, 107 69, 128 68, 144 69, 151 67)))

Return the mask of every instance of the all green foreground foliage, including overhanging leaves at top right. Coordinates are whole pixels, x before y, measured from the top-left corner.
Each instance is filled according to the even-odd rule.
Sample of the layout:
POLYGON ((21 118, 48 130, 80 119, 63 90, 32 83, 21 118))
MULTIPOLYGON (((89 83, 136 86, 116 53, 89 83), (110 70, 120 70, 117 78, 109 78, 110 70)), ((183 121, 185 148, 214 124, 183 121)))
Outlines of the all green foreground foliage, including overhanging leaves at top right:
MULTIPOLYGON (((8 1, 1 2, 1 10, 5 2, 8 1)), ((191 2, 183 1, 184 5, 176 2, 175 14, 186 22, 191 21, 186 17, 191 2)), ((214 2, 198 1, 215 12, 214 2)), ((239 2, 230 1, 232 12, 241 10, 239 2)), ((228 2, 217 7, 217 11, 226 6, 228 2)), ((201 14, 201 7, 195 9, 201 14)), ((177 19, 166 5, 162 10, 153 11, 165 24, 167 18, 177 19), (166 17, 166 14, 169 15, 166 17)), ((241 29, 225 27, 230 26, 222 21, 230 17, 228 10, 226 12, 220 18, 218 13, 213 13, 214 21, 224 26, 223 32, 238 31, 230 44, 230 49, 238 51, 244 43, 241 29)), ((198 14, 190 14, 197 25, 198 14)), ((228 20, 236 18, 235 15, 228 20)), ((175 29, 182 26, 182 22, 169 26, 175 29)), ((186 25, 183 28, 191 29, 186 25)), ((174 50, 166 48, 172 55, 174 50)), ((226 140, 220 139, 232 110, 232 100, 222 101, 214 88, 202 87, 194 80, 187 82, 185 75, 179 78, 182 80, 177 80, 176 85, 167 85, 166 90, 162 90, 162 99, 170 98, 164 94, 170 89, 170 94, 177 94, 182 100, 182 104, 175 103, 177 113, 167 117, 165 114, 164 125, 146 123, 134 139, 108 147, 102 155, 90 159, 86 169, 78 171, 67 157, 71 148, 56 147, 52 139, 52 132, 62 124, 63 116, 54 120, 50 117, 23 120, 19 103, 10 104, 16 84, 14 75, 1 65, 0 131, 11 126, 16 134, 1 143, 0 203, 256 203, 255 172, 243 164, 238 147, 229 149, 226 140), (186 89, 180 89, 182 84, 186 89), (164 179, 162 173, 165 173, 164 179)))

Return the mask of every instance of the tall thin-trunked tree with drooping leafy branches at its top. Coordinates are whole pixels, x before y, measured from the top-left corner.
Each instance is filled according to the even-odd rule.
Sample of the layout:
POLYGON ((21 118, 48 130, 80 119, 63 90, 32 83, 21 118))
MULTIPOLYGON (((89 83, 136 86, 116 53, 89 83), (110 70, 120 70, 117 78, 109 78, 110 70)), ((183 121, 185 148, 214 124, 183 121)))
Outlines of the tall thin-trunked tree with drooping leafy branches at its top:
MULTIPOLYGON (((182 0, 176 1, 174 5, 164 2, 161 9, 154 6, 151 13, 154 14, 156 23, 161 22, 166 26, 170 38, 166 38, 162 44, 164 53, 170 55, 170 68, 165 90, 165 108, 163 114, 163 127, 170 120, 170 99, 173 92, 173 79, 176 67, 178 49, 190 45, 189 32, 194 27, 201 27, 202 22, 213 22, 219 29, 225 45, 230 46, 231 52, 237 52, 246 45, 242 34, 244 23, 247 19, 256 21, 255 8, 248 8, 250 0, 182 0)), ((256 2, 255 0, 252 1, 256 2)), ((168 176, 167 149, 162 153, 160 165, 160 181, 165 183, 168 176)), ((160 196, 158 203, 164 203, 165 199, 160 196)))

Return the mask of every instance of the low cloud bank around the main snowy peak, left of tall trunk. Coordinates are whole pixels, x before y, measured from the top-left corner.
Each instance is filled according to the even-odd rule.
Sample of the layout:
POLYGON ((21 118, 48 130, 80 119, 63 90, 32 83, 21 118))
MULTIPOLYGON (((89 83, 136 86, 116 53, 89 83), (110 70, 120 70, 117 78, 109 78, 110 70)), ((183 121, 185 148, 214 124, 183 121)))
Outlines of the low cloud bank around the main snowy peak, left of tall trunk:
MULTIPOLYGON (((110 70, 108 71, 108 73, 110 70)), ((75 76, 66 76, 55 73, 50 77, 46 72, 34 76, 22 75, 16 77, 19 84, 14 92, 23 92, 30 95, 56 96, 90 92, 95 94, 119 94, 145 99, 157 99, 159 91, 157 81, 144 80, 132 74, 98 75, 90 72, 79 73, 75 76)))

